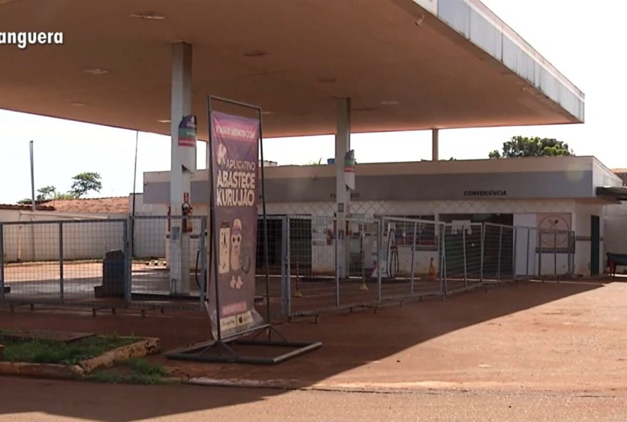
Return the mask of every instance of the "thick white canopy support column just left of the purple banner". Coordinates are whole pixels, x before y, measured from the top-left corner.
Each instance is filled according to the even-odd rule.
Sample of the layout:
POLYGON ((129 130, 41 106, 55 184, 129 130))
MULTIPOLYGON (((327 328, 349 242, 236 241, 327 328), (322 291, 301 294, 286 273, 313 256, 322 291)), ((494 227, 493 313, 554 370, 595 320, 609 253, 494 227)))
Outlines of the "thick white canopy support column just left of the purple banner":
MULTIPOLYGON (((192 44, 172 43, 171 99, 172 167, 170 170, 170 215, 179 217, 170 227, 170 293, 190 293, 190 233, 182 233, 182 204, 190 195, 191 176, 196 170, 196 148, 179 145, 179 123, 192 112, 192 44)), ((189 223, 191 224, 191 222, 189 223)))

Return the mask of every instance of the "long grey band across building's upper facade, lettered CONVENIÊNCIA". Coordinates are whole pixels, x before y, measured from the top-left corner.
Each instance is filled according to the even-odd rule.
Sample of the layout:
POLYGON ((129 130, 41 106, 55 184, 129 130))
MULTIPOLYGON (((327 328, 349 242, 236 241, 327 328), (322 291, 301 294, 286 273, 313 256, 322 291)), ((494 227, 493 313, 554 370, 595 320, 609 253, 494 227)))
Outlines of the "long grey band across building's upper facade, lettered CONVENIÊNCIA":
MULTIPOLYGON (((591 197, 592 172, 490 173, 449 175, 387 175, 356 178, 356 200, 470 200, 591 197)), ((205 203, 207 182, 192 182, 192 202, 205 203)), ((145 185, 146 204, 169 202, 170 183, 145 185)), ((268 202, 335 200, 333 177, 266 180, 268 202)))

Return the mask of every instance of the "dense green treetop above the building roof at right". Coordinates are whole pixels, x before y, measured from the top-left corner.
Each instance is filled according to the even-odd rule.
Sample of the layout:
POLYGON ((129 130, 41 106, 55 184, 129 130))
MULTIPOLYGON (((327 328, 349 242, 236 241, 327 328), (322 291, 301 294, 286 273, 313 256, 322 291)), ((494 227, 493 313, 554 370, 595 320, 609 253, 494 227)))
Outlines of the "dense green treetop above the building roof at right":
POLYGON ((574 155, 567 143, 555 138, 528 138, 526 136, 513 136, 511 140, 503 143, 503 152, 494 150, 488 154, 489 158, 515 158, 515 157, 554 157, 558 155, 574 155))

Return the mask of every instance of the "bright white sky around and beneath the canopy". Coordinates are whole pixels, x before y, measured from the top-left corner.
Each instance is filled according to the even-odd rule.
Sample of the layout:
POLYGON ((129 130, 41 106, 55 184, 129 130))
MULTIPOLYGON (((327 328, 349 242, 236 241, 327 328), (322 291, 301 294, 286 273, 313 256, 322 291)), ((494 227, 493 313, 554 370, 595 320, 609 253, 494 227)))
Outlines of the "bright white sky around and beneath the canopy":
MULTIPOLYGON (((445 1, 445 0, 440 0, 445 1)), ((623 16, 627 2, 617 0, 484 0, 586 95, 586 122, 507 128, 440 130, 440 158, 487 158, 514 135, 557 138, 576 155, 595 155, 609 168, 627 168, 623 125, 623 16)), ((72 177, 100 173, 103 189, 88 196, 125 196, 133 192, 135 131, 0 110, 0 203, 30 197, 28 143, 34 143, 35 187, 70 189, 72 177)), ((358 163, 429 160, 429 131, 351 135, 358 163), (397 148, 381 150, 392 142, 397 148), (402 150, 402 155, 398 151, 402 150)), ((137 192, 147 171, 170 170, 170 138, 138 135, 137 192)), ((266 160, 305 164, 334 155, 333 136, 264 140, 266 160), (303 148, 307 145, 307 148, 303 148)), ((197 149, 204 168, 205 144, 197 149)))

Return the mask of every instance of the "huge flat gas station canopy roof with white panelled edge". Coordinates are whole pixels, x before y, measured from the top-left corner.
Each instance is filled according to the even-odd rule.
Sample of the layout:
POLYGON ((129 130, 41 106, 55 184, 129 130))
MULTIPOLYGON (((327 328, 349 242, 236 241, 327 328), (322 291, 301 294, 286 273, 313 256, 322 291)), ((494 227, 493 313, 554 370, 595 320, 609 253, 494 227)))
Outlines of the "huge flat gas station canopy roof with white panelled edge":
POLYGON ((170 133, 172 43, 206 95, 260 105, 264 135, 580 123, 584 95, 477 0, 0 0, 0 108, 170 133))

